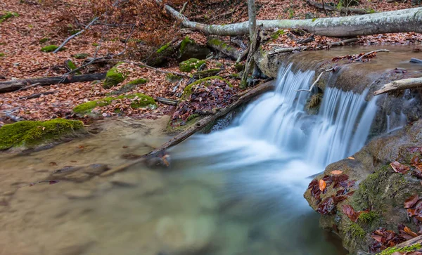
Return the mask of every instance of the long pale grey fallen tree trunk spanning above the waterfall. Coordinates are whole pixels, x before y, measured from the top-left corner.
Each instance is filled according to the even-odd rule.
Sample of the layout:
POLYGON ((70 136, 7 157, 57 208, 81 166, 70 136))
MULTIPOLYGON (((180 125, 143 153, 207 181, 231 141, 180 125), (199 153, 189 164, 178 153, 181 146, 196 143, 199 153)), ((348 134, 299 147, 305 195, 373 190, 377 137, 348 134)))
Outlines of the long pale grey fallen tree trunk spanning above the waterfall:
MULTIPOLYGON (((158 4, 162 2, 156 0, 158 4)), ((179 20, 184 27, 205 34, 236 36, 248 34, 248 21, 228 25, 206 25, 192 22, 174 8, 165 5, 165 10, 179 20)), ((422 32, 422 8, 409 8, 399 11, 371 13, 359 16, 317 18, 309 20, 257 20, 264 29, 302 29, 307 32, 328 37, 355 37, 358 35, 387 34, 397 32, 422 32)))

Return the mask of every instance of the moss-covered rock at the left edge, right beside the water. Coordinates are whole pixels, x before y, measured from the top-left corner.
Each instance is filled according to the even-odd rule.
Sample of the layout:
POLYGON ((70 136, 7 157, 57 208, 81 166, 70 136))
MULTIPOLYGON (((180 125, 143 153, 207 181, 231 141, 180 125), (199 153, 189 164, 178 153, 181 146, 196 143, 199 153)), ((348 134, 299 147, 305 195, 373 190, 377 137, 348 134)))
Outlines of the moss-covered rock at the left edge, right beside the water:
POLYGON ((46 122, 22 121, 6 124, 0 128, 0 150, 13 147, 33 148, 63 136, 84 131, 84 124, 69 119, 51 119, 46 122))

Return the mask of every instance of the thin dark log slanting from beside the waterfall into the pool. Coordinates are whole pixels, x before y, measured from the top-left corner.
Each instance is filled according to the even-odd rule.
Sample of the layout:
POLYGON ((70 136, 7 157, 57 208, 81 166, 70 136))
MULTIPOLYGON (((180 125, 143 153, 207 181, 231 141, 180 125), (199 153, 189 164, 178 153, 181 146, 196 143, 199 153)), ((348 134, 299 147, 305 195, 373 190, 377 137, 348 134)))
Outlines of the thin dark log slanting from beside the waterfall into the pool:
POLYGON ((256 86, 253 89, 250 89, 250 91, 242 92, 238 94, 238 100, 236 100, 234 103, 231 103, 231 105, 228 105, 224 108, 218 108, 215 109, 214 115, 208 115, 207 117, 204 117, 203 119, 198 120, 195 124, 190 126, 185 131, 179 133, 177 136, 174 136, 171 140, 169 140, 167 143, 163 144, 160 148, 153 150, 152 152, 149 152, 146 155, 143 155, 143 157, 136 159, 132 162, 129 162, 127 164, 122 164, 120 166, 115 167, 114 169, 110 169, 108 171, 103 172, 101 176, 110 176, 112 174, 115 174, 119 171, 123 171, 124 169, 127 169, 129 166, 133 166, 134 164, 139 164, 140 162, 147 161, 148 159, 159 157, 162 155, 163 157, 167 157, 165 155, 165 150, 168 148, 178 145, 182 141, 186 140, 189 136, 192 136, 194 133, 200 131, 208 124, 211 124, 219 117, 224 117, 224 115, 231 112, 231 110, 236 109, 236 107, 239 107, 243 103, 247 103, 252 98, 255 98, 255 96, 259 96, 260 94, 270 91, 271 89, 274 89, 274 84, 272 81, 265 82, 263 84, 260 84, 256 86))

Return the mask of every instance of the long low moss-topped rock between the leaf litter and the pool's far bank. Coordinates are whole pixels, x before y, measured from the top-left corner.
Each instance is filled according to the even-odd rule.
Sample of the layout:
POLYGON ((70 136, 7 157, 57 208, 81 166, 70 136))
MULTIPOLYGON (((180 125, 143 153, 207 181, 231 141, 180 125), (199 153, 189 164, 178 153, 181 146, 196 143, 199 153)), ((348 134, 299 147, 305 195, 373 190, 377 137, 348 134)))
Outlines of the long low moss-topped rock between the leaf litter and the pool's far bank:
POLYGON ((73 112, 75 112, 78 116, 84 116, 91 114, 91 111, 95 107, 102 107, 106 105, 110 105, 113 100, 117 99, 124 99, 124 98, 138 98, 138 100, 134 100, 134 102, 131 103, 132 108, 141 108, 141 107, 157 107, 157 104, 155 103, 155 100, 151 98, 151 96, 146 96, 142 93, 135 93, 132 95, 124 95, 124 96, 117 96, 117 97, 107 97, 99 100, 89 101, 87 103, 82 103, 81 105, 77 105, 75 108, 73 108, 73 112))

